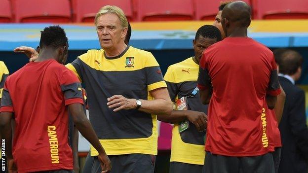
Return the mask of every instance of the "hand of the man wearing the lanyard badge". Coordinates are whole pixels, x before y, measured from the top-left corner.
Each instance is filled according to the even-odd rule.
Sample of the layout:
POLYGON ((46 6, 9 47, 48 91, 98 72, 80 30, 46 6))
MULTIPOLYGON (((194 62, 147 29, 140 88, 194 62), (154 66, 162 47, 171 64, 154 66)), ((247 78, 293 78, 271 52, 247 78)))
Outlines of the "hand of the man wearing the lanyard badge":
POLYGON ((195 125, 199 132, 203 132, 207 127, 207 115, 204 112, 187 110, 187 119, 195 125))

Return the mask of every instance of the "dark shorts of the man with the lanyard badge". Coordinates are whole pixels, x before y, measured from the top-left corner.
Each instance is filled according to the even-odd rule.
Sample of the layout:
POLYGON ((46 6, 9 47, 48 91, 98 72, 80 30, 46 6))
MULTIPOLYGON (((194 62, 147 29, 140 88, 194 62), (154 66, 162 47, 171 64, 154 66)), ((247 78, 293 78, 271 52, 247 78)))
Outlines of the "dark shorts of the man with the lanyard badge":
POLYGON ((203 165, 170 162, 169 173, 202 173, 203 165))

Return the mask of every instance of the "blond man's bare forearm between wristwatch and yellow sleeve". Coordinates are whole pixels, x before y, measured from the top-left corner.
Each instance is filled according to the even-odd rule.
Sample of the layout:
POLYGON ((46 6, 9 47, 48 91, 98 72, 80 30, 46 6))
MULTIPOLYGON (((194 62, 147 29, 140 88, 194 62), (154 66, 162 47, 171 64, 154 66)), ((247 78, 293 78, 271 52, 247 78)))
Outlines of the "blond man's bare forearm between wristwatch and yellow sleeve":
POLYGON ((142 105, 138 109, 150 114, 170 115, 172 111, 172 103, 163 99, 141 100, 142 105))

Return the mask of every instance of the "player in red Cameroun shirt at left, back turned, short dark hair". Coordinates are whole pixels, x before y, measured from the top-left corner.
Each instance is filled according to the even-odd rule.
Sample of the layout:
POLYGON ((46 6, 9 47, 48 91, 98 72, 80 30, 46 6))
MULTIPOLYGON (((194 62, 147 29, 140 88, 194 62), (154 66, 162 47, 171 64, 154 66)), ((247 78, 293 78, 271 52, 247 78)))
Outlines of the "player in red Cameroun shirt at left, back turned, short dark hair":
POLYGON ((81 84, 62 65, 68 53, 64 30, 59 26, 45 28, 39 47, 39 58, 7 77, 3 89, 0 127, 6 139, 6 157, 13 158, 9 168, 15 164, 18 173, 72 173, 69 109, 77 129, 99 151, 103 172, 109 172, 110 160, 83 112, 81 84), (13 116, 16 127, 11 149, 13 116))

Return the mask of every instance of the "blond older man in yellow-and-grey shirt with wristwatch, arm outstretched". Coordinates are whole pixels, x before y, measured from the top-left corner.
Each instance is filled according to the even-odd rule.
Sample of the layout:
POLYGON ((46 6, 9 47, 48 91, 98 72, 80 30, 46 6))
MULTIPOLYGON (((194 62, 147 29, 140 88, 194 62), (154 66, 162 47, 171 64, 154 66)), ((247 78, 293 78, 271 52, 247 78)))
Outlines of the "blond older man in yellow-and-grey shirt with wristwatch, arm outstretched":
MULTIPOLYGON (((111 160, 112 172, 153 173, 156 114, 172 111, 161 70, 150 52, 124 43, 128 22, 120 8, 101 8, 95 26, 102 49, 89 50, 66 67, 85 84, 90 122, 111 160)), ((33 51, 32 61, 37 54, 27 47, 15 51, 33 51)), ((102 171, 97 154, 91 147, 89 173, 102 171)))

